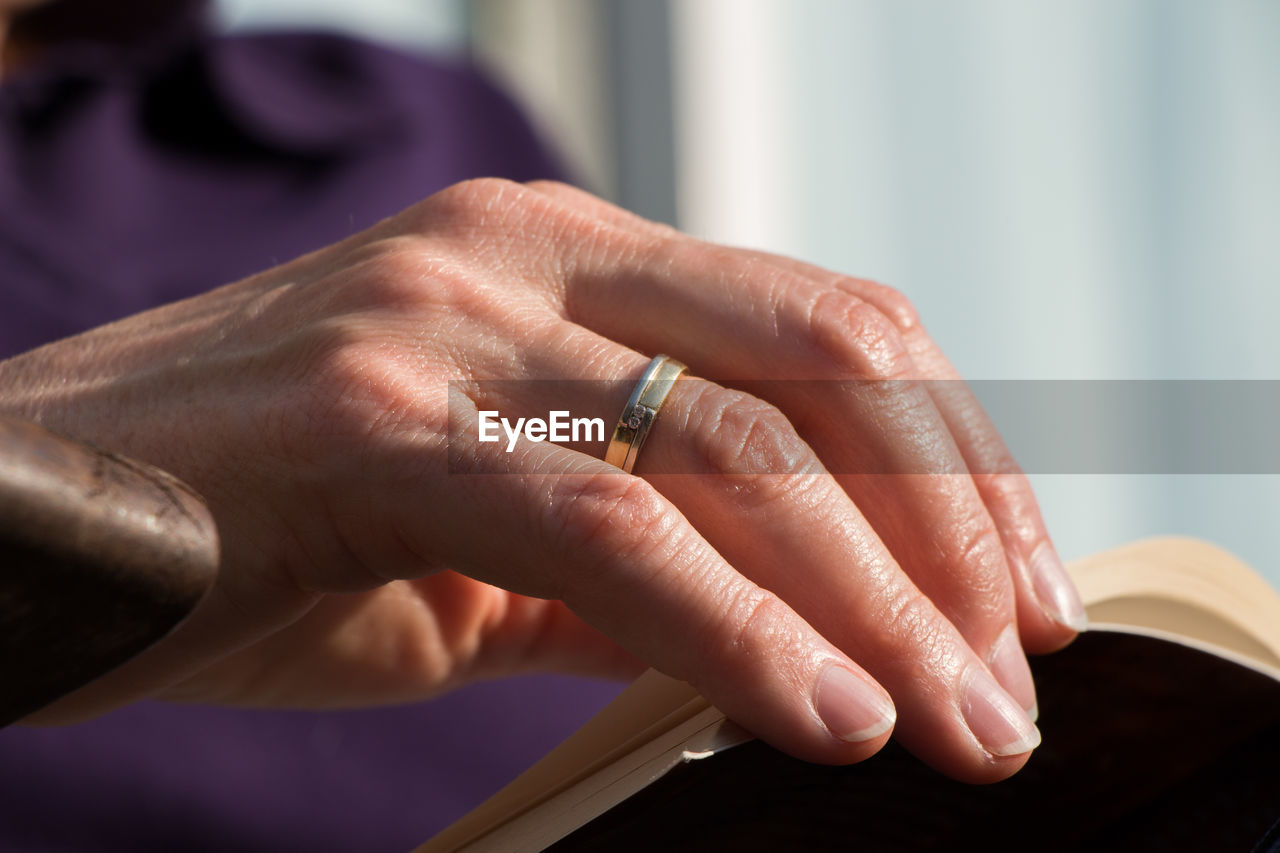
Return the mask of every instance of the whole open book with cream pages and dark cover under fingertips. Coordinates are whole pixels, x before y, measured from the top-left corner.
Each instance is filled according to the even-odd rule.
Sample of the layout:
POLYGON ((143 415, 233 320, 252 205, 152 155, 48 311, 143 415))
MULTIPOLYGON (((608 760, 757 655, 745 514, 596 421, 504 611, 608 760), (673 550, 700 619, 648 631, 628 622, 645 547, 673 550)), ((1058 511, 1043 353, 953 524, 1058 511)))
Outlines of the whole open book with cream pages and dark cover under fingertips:
POLYGON ((1069 571, 1091 629, 1032 658, 1043 744, 1007 781, 945 779, 896 743, 809 765, 650 671, 419 853, 1248 852, 1280 820, 1280 594, 1194 539, 1069 571))

